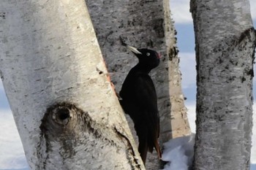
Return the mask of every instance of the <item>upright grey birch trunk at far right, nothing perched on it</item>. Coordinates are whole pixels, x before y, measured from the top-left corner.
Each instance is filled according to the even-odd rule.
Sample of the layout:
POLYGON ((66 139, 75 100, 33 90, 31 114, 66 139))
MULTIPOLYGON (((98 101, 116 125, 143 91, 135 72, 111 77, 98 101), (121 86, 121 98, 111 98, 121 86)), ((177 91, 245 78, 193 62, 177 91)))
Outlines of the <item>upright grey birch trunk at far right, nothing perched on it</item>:
POLYGON ((191 1, 197 61, 194 169, 249 170, 255 29, 249 0, 191 1))

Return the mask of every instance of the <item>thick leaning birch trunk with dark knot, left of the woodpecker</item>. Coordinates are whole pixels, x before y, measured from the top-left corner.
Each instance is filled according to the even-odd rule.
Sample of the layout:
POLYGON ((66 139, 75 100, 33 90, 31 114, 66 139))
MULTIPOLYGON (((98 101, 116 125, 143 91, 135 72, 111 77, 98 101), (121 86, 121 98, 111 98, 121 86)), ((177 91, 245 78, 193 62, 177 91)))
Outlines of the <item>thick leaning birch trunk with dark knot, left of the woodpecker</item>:
POLYGON ((0 2, 0 73, 31 169, 144 169, 83 0, 0 2))

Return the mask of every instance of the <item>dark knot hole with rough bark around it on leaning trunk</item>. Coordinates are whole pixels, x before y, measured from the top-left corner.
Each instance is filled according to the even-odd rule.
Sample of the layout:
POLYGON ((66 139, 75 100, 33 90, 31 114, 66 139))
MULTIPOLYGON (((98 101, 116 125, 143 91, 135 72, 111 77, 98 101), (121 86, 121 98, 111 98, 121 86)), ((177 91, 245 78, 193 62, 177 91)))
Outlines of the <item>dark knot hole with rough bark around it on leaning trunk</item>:
MULTIPOLYGON (((37 155, 42 157, 43 163, 51 161, 54 157, 61 155, 64 161, 73 158, 76 154, 74 148, 88 138, 84 136, 86 129, 86 118, 88 112, 83 112, 77 105, 68 102, 53 104, 48 107, 40 125, 41 140, 38 143, 37 155), (58 146, 58 147, 56 147, 58 146), (42 150, 45 148, 45 150, 42 150)), ((89 117, 90 118, 90 117, 89 117)), ((89 119, 88 118, 88 119, 89 119)), ((85 143, 85 142, 84 142, 85 143)), ((38 168, 45 169, 45 168, 38 168)))

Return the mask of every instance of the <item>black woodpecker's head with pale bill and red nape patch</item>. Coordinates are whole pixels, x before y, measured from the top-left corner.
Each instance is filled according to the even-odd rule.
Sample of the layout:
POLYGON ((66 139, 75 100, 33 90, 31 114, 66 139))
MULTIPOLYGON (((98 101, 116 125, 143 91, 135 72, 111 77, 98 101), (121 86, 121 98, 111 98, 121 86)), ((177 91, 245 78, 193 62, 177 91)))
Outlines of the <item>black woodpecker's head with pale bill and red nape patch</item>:
POLYGON ((139 63, 148 67, 148 69, 154 69, 159 65, 160 55, 156 51, 147 48, 137 49, 129 45, 127 45, 127 48, 137 56, 139 63))

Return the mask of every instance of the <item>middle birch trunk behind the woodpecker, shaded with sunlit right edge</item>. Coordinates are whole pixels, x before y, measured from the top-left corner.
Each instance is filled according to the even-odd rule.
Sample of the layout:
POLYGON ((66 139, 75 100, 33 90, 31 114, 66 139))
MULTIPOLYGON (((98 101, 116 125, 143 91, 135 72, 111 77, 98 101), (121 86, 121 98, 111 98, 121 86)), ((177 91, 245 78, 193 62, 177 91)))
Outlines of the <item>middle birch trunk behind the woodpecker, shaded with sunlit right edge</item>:
MULTIPOLYGON (((151 77, 159 101, 160 141, 167 142, 172 137, 190 134, 169 1, 86 0, 86 3, 116 91, 120 91, 129 69, 138 62, 121 45, 119 36, 129 45, 157 50, 162 59, 157 69, 151 71, 151 77)), ((132 120, 129 116, 127 119, 133 128, 132 120)), ((157 155, 148 154, 146 162, 147 169, 159 169, 157 155)))

